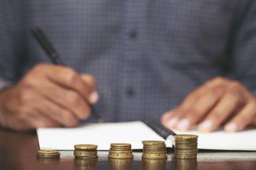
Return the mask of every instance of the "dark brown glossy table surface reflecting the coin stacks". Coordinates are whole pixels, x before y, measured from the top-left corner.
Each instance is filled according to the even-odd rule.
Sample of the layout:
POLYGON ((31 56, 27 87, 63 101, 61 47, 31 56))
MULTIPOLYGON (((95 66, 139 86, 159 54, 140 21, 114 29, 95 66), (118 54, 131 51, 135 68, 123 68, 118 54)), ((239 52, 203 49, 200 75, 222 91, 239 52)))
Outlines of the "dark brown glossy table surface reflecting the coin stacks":
POLYGON ((256 169, 256 152, 200 150, 196 160, 142 159, 142 151, 134 151, 134 159, 107 159, 107 151, 98 151, 98 159, 74 159, 73 151, 60 151, 60 159, 37 159, 39 149, 36 132, 13 132, 0 128, 0 169, 256 169))

